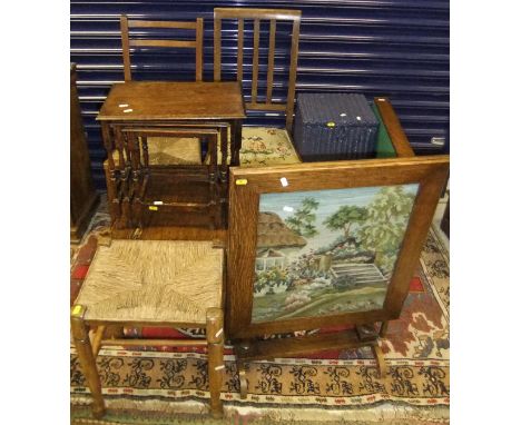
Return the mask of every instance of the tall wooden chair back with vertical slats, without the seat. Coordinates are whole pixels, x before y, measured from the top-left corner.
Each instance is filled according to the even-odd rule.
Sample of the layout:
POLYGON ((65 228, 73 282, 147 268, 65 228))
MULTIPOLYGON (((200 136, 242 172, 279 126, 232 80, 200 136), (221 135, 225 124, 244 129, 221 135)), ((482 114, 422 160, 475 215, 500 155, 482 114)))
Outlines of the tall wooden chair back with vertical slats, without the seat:
POLYGON ((246 109, 263 111, 284 111, 286 113, 286 129, 291 131, 293 123, 293 110, 295 103, 295 82, 298 58, 298 37, 301 28, 299 10, 284 9, 243 9, 243 8, 216 8, 214 9, 214 80, 220 81, 222 77, 222 21, 223 19, 237 20, 237 81, 244 79, 244 41, 245 21, 253 20, 253 63, 252 63, 252 91, 250 101, 246 109), (266 96, 259 93, 259 52, 260 49, 260 22, 269 21, 269 40, 266 72, 266 96), (277 21, 293 21, 291 33, 289 73, 287 81, 286 102, 273 102, 274 73, 275 73, 275 37, 277 21), (264 101, 260 99, 264 98, 264 101))

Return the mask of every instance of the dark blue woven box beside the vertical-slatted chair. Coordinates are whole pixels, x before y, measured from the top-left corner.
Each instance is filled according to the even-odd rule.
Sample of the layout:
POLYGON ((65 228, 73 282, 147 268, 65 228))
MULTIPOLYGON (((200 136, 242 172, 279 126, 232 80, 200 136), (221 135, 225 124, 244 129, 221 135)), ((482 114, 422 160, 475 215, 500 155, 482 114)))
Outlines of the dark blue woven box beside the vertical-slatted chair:
POLYGON ((379 125, 363 95, 301 93, 293 140, 303 161, 374 158, 379 125))

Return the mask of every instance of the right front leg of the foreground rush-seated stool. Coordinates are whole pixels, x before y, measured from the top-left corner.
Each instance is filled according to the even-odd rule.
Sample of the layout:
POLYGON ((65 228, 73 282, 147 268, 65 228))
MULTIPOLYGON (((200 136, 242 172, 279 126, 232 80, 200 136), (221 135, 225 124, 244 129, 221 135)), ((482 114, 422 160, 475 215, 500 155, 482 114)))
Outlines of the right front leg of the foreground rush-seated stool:
POLYGON ((208 340, 208 380, 210 391, 210 413, 215 418, 223 417, 220 386, 224 374, 224 329, 223 310, 208 308, 206 312, 206 339, 208 340))

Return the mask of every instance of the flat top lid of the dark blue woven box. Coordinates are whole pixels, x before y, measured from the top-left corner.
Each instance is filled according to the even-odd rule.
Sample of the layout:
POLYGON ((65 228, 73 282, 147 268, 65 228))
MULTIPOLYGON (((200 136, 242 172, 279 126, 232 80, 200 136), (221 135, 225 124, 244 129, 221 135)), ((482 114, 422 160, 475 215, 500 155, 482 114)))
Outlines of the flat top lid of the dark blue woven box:
POLYGON ((377 126, 365 96, 355 93, 299 93, 297 110, 305 123, 377 126))

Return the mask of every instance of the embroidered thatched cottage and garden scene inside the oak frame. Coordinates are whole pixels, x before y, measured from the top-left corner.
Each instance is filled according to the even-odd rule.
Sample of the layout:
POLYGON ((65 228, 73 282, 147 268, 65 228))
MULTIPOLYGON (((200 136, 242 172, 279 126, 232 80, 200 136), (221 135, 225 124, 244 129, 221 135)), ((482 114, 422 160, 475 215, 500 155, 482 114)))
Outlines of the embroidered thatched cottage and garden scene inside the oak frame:
POLYGON ((253 322, 382 308, 416 191, 262 195, 253 322))

